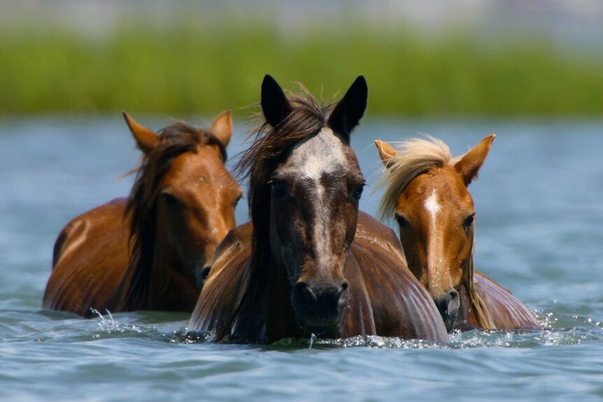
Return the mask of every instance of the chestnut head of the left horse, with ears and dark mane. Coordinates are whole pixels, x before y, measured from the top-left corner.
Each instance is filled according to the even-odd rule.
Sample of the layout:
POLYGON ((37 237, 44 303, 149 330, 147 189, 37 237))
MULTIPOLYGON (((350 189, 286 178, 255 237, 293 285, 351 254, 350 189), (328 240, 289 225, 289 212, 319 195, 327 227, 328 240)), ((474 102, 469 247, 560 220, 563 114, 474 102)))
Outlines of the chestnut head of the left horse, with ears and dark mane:
POLYGON ((208 130, 176 122, 158 134, 127 113, 124 117, 143 152, 127 203, 133 286, 152 286, 150 267, 161 264, 201 287, 215 248, 235 226, 234 208, 241 198, 224 165, 231 113, 216 117, 208 130))

